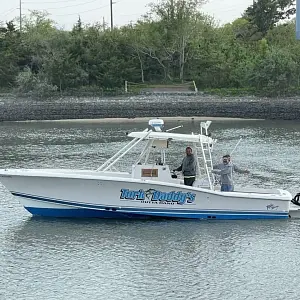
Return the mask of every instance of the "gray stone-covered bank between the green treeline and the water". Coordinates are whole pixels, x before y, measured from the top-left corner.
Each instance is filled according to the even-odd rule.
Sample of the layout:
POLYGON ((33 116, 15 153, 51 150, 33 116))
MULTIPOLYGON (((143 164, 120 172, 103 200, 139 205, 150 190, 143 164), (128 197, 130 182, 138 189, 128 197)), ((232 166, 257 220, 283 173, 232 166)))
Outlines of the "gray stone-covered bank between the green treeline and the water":
POLYGON ((0 122, 137 123, 165 121, 300 120, 300 97, 133 96, 0 101, 0 122))

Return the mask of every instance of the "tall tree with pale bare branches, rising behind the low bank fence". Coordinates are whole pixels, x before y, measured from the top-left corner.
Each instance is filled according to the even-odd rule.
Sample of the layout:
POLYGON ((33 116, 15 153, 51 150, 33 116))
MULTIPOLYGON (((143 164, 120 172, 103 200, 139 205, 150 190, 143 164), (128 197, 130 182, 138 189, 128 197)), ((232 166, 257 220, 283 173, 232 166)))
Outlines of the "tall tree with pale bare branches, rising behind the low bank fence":
POLYGON ((204 0, 163 0, 150 5, 150 13, 139 22, 142 34, 140 51, 163 68, 164 79, 184 80, 188 60, 187 45, 203 16, 198 8, 204 0), (172 74, 173 73, 173 74, 172 74))

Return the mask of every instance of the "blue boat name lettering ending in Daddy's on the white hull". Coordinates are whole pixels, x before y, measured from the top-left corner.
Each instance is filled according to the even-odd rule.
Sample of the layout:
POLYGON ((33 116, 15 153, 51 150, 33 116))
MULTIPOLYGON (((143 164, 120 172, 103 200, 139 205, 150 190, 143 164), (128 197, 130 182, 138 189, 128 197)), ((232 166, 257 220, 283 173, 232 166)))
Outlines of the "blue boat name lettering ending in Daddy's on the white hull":
POLYGON ((149 190, 129 190, 121 189, 120 199, 126 200, 149 200, 149 201, 164 201, 164 202, 177 202, 178 204, 193 203, 196 194, 187 192, 161 192, 154 189, 149 190))

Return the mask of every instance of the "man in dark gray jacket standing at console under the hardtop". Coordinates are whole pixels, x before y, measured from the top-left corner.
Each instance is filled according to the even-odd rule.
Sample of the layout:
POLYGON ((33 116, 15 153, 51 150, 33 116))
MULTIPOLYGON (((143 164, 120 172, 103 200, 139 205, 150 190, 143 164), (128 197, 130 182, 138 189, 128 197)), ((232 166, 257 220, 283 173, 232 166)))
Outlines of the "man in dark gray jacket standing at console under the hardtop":
POLYGON ((186 147, 185 153, 186 157, 182 160, 181 166, 173 171, 182 171, 184 184, 192 186, 196 179, 196 160, 191 147, 186 147))

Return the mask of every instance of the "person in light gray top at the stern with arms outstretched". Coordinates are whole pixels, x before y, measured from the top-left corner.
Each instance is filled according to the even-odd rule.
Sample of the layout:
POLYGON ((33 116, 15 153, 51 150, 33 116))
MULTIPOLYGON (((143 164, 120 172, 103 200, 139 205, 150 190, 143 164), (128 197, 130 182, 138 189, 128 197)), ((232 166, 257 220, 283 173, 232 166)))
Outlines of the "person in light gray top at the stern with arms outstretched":
POLYGON ((223 156, 223 163, 214 165, 212 173, 221 175, 221 191, 233 192, 233 172, 249 173, 248 170, 243 170, 237 167, 230 161, 230 155, 223 156))

